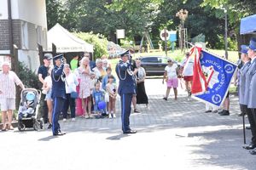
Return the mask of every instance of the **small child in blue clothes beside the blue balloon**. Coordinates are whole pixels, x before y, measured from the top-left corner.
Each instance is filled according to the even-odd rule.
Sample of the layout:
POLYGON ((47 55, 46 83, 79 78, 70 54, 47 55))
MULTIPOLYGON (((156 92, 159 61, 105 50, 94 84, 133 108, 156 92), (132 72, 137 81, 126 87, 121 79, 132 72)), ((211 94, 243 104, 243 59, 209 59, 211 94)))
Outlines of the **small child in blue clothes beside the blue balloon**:
POLYGON ((92 102, 94 105, 94 112, 96 113, 96 117, 102 116, 102 113, 104 113, 104 111, 102 109, 99 109, 98 107, 99 102, 104 101, 104 92, 100 88, 101 88, 101 83, 96 82, 95 89, 93 89, 93 92, 92 92, 92 102))

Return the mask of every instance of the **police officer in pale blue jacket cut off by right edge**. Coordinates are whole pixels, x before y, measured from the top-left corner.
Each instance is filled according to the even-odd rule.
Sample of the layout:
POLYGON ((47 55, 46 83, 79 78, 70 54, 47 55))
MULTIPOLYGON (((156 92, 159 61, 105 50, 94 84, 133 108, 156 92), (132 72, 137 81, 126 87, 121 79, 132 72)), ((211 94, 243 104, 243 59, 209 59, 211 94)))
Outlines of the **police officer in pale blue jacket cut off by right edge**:
MULTIPOLYGON (((253 115, 253 122, 254 122, 254 133, 253 133, 253 138, 254 138, 254 147, 256 148, 256 143, 255 143, 255 138, 256 138, 256 38, 252 38, 250 41, 249 49, 248 49, 248 56, 252 59, 252 66, 253 66, 253 71, 251 72, 252 75, 252 80, 250 82, 249 86, 249 95, 248 95, 248 109, 251 110, 251 113, 253 115)), ((251 66, 251 67, 252 67, 251 66)), ((251 127, 252 128, 252 127, 251 127)), ((250 153, 252 155, 256 155, 256 149, 250 150, 250 153)))

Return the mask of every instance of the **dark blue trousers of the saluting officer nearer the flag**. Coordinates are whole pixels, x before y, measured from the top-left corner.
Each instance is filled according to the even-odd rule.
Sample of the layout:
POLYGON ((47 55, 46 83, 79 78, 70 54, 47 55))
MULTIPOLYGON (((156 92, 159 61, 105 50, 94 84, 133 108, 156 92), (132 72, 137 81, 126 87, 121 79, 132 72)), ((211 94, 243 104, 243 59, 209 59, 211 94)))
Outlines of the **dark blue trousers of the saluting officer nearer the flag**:
POLYGON ((133 94, 121 94, 121 119, 122 119, 122 131, 128 132, 130 128, 129 117, 131 115, 131 99, 133 94))

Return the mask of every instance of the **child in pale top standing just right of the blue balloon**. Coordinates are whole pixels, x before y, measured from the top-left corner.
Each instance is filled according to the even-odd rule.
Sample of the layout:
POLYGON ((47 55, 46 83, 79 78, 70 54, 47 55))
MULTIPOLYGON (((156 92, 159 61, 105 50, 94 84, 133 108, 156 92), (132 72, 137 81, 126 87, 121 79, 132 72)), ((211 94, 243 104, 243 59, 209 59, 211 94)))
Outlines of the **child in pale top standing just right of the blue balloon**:
POLYGON ((108 76, 108 84, 106 85, 106 91, 109 94, 108 102, 108 118, 115 118, 115 100, 116 100, 116 85, 113 83, 113 75, 108 76))

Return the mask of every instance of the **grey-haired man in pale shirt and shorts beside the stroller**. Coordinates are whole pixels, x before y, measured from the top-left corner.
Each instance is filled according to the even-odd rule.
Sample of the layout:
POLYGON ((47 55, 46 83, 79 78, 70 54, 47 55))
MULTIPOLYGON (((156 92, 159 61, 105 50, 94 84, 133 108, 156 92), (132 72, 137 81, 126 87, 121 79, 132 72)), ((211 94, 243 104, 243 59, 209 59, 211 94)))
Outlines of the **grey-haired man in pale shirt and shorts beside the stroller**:
POLYGON ((23 83, 14 71, 10 71, 9 62, 3 62, 3 71, 0 72, 0 105, 2 111, 3 131, 13 130, 13 111, 15 110, 16 88, 15 84, 24 89, 23 83), (6 122, 8 116, 8 122, 6 122))

